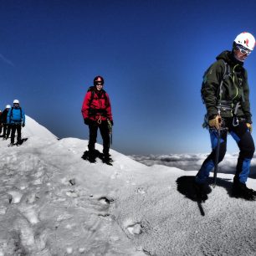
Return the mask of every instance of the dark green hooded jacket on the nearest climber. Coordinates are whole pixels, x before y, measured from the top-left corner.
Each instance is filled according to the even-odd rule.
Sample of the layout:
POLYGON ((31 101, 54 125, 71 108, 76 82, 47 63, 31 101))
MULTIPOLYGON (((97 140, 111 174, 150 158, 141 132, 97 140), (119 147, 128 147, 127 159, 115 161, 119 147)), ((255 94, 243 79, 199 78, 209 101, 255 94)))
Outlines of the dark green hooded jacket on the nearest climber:
MULTIPOLYGON (((218 115, 218 105, 226 102, 226 105, 230 105, 233 109, 239 103, 236 115, 245 118, 246 122, 252 123, 247 71, 243 68, 243 63, 235 59, 230 51, 224 51, 216 59, 217 61, 207 69, 203 76, 201 90, 209 120, 218 115), (227 78, 223 79, 226 69, 225 62, 228 64, 230 72, 227 78), (221 84, 222 86, 220 86, 221 84)), ((232 117, 233 110, 222 108, 221 116, 223 118, 232 117)))

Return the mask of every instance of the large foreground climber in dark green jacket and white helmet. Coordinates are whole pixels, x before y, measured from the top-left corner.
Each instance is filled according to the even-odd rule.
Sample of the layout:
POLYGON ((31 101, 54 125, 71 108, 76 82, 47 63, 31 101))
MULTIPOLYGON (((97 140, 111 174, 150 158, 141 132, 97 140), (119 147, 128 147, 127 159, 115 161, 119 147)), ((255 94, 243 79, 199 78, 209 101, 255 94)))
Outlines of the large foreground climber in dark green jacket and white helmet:
MULTIPOLYGON (((233 136, 240 150, 236 173, 233 178, 233 196, 253 200, 255 192, 246 187, 250 162, 255 150, 249 101, 248 74, 243 62, 253 51, 255 38, 251 33, 240 33, 234 39, 232 51, 223 51, 203 77, 202 100, 207 108, 212 152, 203 161, 195 178, 199 197, 207 199, 207 177, 215 165, 218 129, 220 144, 218 162, 223 161, 227 149, 228 133, 233 136)), ((218 163, 217 163, 218 164, 218 163)))

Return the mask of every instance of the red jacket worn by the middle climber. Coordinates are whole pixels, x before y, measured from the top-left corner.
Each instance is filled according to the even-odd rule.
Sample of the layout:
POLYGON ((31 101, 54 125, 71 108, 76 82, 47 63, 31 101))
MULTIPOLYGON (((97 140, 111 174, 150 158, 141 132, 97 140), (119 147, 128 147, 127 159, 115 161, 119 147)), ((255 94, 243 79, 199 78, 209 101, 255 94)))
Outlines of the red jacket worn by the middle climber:
POLYGON ((95 87, 84 96, 82 115, 90 120, 113 120, 110 97, 105 90, 97 90, 95 87), (93 96, 93 99, 92 99, 93 96), (91 100, 92 99, 92 100, 91 100))

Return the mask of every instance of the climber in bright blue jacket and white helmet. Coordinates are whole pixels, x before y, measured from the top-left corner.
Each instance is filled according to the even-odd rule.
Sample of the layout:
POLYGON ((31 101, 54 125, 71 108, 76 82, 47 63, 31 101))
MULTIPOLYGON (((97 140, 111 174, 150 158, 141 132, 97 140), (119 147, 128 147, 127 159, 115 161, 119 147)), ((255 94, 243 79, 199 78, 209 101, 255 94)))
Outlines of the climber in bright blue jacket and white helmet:
POLYGON ((11 144, 14 145, 15 132, 17 131, 17 145, 21 144, 21 129, 25 126, 25 114, 18 100, 13 100, 13 107, 8 111, 8 124, 11 125, 11 144))

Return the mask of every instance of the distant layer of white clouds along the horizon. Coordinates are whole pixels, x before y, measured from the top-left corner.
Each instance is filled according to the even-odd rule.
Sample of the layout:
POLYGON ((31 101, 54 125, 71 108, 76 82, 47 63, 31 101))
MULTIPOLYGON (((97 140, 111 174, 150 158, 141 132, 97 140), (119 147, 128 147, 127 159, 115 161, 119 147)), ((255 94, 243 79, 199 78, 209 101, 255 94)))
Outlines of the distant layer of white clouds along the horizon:
MULTIPOLYGON (((198 171, 202 162, 206 159, 207 154, 173 154, 161 156, 131 156, 146 166, 162 165, 177 167, 184 171, 198 171)), ((238 154, 226 154, 224 160, 218 166, 218 172, 235 173, 238 154)), ((256 156, 253 157, 250 177, 256 178, 256 156)))

